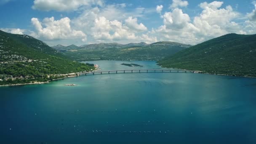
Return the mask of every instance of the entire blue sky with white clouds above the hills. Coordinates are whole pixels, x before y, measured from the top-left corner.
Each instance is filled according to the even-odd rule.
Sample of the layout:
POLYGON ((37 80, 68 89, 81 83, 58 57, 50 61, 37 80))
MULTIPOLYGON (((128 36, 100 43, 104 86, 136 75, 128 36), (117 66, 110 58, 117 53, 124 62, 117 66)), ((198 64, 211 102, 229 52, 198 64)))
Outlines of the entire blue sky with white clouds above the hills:
POLYGON ((195 45, 256 34, 256 0, 0 0, 0 30, 48 45, 195 45))

